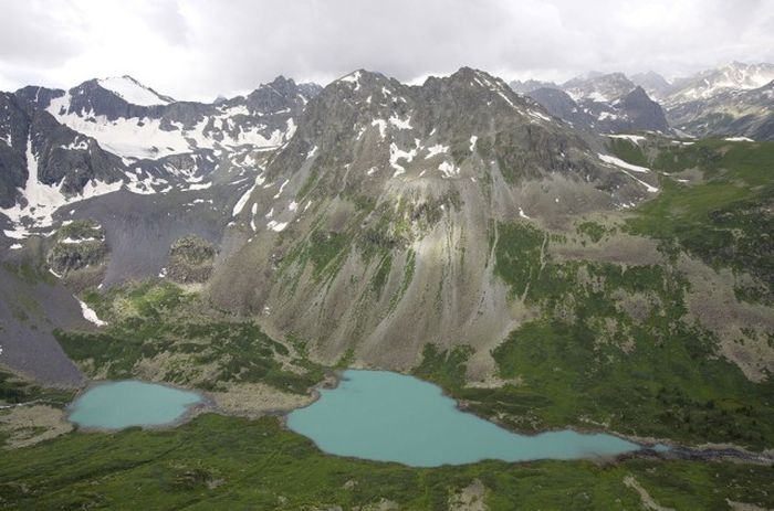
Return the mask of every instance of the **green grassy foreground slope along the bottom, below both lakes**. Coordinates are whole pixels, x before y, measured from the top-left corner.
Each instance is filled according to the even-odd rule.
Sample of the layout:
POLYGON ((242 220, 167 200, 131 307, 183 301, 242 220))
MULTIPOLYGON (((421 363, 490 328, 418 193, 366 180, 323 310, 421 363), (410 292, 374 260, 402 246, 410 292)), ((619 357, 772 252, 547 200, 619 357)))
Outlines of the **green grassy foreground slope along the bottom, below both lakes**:
POLYGON ((479 479, 492 510, 637 509, 631 475, 661 505, 728 509, 725 499, 774 505, 770 467, 628 460, 487 461, 411 469, 321 454, 275 418, 205 415, 167 432, 70 434, 0 457, 8 509, 344 509, 383 498, 402 509, 448 509, 479 479), (347 481, 355 481, 347 486, 347 481))

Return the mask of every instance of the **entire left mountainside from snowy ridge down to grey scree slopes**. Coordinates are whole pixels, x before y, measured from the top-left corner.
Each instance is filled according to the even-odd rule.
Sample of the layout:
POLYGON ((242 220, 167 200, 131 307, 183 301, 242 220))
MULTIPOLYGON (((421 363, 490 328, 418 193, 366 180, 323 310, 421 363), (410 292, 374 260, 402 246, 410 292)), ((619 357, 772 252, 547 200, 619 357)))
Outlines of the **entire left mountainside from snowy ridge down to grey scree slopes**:
POLYGON ((79 381, 51 334, 84 323, 69 292, 167 273, 200 279, 205 269, 181 269, 170 247, 189 236, 221 246, 237 200, 317 92, 280 77, 208 105, 123 77, 0 95, 0 262, 25 277, 8 280, 0 307, 0 332, 11 336, 0 336, 2 362, 50 383, 79 381), (67 234, 79 225, 98 236, 67 234), (61 307, 34 305, 52 286, 61 307), (22 318, 14 296, 34 310, 22 318), (60 309, 74 322, 46 320, 60 309))

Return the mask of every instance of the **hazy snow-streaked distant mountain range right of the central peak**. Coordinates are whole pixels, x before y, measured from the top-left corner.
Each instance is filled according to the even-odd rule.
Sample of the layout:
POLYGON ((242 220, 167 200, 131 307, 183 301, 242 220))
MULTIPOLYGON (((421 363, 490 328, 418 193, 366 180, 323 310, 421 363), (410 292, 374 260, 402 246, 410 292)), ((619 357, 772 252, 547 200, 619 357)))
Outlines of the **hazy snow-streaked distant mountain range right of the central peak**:
POLYGON ((557 85, 512 82, 573 126, 599 132, 637 130, 691 137, 774 138, 774 65, 743 64, 677 78, 655 72, 631 77, 589 73, 557 85))

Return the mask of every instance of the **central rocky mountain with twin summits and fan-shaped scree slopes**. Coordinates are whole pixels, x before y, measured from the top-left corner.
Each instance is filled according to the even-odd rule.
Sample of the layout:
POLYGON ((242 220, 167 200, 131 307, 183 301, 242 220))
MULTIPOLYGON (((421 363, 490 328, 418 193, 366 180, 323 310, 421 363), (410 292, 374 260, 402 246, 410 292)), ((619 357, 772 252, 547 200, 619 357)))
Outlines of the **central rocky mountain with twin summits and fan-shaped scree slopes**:
POLYGON ((310 102, 240 201, 244 244, 211 298, 325 360, 406 368, 426 342, 495 344, 524 313, 492 273, 496 221, 557 224, 655 190, 600 147, 479 71, 419 87, 356 72, 310 102))

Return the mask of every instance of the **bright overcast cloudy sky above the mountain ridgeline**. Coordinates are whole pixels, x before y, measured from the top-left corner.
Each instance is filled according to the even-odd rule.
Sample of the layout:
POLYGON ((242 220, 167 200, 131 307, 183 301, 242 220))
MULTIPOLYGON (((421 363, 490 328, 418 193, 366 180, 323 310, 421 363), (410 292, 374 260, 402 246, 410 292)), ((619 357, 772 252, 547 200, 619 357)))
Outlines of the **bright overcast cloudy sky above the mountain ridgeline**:
POLYGON ((0 89, 129 74, 178 99, 356 68, 404 82, 774 63, 774 0, 0 0, 0 89))

